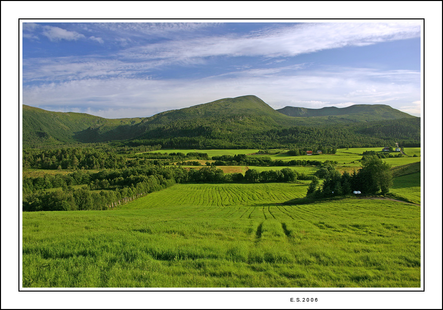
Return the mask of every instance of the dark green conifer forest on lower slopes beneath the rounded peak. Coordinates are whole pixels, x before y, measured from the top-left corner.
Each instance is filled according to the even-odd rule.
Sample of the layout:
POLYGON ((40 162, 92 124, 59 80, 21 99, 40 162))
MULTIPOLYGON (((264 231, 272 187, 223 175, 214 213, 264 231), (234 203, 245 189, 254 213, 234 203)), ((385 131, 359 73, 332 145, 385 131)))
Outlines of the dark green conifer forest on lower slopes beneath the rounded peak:
POLYGON ((260 122, 257 119, 256 124, 262 126, 254 125, 252 118, 247 126, 227 120, 221 123, 218 118, 211 122, 199 119, 194 119, 193 123, 175 121, 173 124, 157 124, 158 127, 144 132, 137 141, 145 145, 161 145, 162 148, 301 149, 323 145, 332 150, 394 145, 395 142, 404 147, 419 147, 421 139, 420 118, 287 128, 271 123, 265 126, 265 119, 260 122))

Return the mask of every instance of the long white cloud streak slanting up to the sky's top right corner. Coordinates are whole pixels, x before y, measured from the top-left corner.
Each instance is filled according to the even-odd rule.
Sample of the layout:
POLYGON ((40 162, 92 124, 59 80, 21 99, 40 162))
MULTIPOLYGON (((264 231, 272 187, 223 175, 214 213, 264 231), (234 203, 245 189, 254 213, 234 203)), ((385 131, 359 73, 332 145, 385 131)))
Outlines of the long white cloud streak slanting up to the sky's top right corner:
POLYGON ((413 23, 302 23, 248 35, 174 40, 122 52, 136 59, 210 56, 287 57, 344 46, 420 37, 413 23))

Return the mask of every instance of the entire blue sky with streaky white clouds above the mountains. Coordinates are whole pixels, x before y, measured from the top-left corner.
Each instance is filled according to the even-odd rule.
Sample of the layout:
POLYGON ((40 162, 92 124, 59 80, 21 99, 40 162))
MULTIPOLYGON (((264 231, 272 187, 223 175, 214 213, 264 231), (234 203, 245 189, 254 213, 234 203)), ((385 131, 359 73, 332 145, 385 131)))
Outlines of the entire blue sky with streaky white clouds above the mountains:
POLYGON ((421 115, 421 24, 23 22, 23 103, 143 117, 255 95, 421 115))

